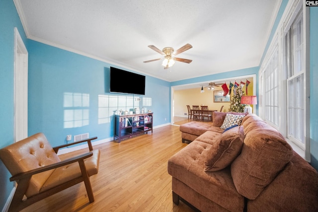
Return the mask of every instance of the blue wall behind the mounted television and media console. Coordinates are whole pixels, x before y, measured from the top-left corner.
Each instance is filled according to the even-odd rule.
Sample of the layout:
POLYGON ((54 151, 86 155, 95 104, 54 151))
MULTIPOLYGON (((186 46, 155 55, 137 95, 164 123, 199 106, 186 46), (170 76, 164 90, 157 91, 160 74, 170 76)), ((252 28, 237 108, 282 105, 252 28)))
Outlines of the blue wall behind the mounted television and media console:
MULTIPOLYGON (((129 98, 133 95, 108 92, 111 65, 32 40, 28 40, 27 48, 29 51, 28 134, 43 132, 53 146, 66 143, 67 135, 89 133, 91 137, 97 136, 98 140, 112 138, 115 126, 114 115, 110 114, 110 119, 106 123, 99 123, 98 96, 129 98), (88 95, 89 105, 65 107, 65 94, 88 95), (65 110, 81 109, 88 111, 86 124, 66 128, 65 110)), ((134 83, 136 82, 128 86, 134 86, 134 83)), ((146 94, 133 97, 152 99, 152 106, 147 109, 154 112, 154 126, 170 123, 170 104, 168 104, 170 82, 146 75, 146 94)), ((136 104, 132 109, 142 107, 136 104)), ((130 108, 119 106, 116 109, 130 108)))

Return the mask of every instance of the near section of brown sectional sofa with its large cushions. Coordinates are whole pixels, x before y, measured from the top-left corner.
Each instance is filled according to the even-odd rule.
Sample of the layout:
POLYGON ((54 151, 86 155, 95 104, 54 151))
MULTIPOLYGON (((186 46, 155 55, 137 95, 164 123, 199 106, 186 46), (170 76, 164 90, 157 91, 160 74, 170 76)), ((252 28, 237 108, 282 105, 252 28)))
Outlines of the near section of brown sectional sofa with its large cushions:
POLYGON ((253 114, 190 142, 168 160, 168 173, 173 202, 202 212, 318 211, 317 171, 253 114))

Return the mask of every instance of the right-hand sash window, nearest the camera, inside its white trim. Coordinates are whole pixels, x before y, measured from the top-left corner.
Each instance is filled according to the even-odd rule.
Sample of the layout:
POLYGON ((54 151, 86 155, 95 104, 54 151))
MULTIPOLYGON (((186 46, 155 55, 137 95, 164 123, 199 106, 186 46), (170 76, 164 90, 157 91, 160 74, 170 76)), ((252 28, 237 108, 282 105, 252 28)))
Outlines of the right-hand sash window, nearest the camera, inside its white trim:
POLYGON ((303 13, 285 35, 285 63, 287 85, 287 138, 305 150, 305 66, 303 13))

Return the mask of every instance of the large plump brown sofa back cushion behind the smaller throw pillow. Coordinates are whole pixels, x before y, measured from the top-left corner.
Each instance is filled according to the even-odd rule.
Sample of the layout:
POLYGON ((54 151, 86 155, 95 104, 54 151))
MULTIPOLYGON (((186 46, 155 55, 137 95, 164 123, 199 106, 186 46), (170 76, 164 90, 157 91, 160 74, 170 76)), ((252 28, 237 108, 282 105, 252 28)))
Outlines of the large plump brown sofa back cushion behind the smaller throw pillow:
POLYGON ((254 200, 291 160, 293 149, 258 117, 251 116, 248 121, 243 125, 245 139, 240 155, 231 164, 231 174, 239 194, 254 200))

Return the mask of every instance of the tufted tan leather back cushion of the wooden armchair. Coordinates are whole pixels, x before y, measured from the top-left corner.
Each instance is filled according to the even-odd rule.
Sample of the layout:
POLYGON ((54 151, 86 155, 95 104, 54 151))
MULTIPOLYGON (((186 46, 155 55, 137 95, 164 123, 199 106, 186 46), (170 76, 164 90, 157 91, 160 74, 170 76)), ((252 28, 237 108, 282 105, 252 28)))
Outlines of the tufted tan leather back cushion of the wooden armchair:
MULTIPOLYGON (((0 149, 0 159, 11 175, 60 162, 44 134, 38 133, 0 149)), ((53 170, 33 175, 26 196, 39 193, 53 170)))

